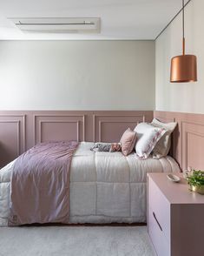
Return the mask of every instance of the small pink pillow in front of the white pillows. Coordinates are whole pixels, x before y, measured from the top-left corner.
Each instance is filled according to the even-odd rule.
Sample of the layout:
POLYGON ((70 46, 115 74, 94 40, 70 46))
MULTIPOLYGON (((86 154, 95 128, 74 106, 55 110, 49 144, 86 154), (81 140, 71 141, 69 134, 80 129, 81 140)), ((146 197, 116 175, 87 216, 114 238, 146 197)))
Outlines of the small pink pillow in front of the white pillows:
POLYGON ((121 138, 121 145, 122 145, 122 154, 124 156, 128 156, 134 147, 136 142, 136 132, 130 130, 129 128, 122 134, 121 138))

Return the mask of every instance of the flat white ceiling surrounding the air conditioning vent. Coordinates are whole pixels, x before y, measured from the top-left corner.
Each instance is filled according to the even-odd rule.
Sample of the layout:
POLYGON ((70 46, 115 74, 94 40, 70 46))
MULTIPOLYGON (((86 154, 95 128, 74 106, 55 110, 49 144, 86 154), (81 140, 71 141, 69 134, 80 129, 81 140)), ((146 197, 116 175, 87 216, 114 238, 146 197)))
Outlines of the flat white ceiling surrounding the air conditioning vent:
POLYGON ((179 10, 181 0, 0 0, 0 40, 153 40, 179 10), (101 17, 101 33, 25 34, 7 17, 101 17))

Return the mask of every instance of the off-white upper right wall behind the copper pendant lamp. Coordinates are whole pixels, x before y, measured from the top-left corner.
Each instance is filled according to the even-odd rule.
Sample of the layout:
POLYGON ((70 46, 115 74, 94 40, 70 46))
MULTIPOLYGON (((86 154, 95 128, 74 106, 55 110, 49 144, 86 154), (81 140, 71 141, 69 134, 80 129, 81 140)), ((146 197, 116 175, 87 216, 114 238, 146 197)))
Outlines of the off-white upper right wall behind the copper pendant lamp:
POLYGON ((186 52, 198 58, 198 82, 171 84, 171 57, 181 55, 181 15, 155 44, 155 107, 157 111, 204 113, 204 1, 192 0, 185 9, 186 52))

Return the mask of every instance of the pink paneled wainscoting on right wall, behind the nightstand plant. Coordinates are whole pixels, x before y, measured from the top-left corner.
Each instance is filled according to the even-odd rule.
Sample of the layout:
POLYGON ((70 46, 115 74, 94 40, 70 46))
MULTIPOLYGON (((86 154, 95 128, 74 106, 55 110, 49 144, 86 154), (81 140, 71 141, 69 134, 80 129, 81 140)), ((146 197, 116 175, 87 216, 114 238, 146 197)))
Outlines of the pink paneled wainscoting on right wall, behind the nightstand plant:
POLYGON ((172 155, 181 169, 204 170, 204 115, 154 111, 154 117, 178 123, 172 138, 172 155))

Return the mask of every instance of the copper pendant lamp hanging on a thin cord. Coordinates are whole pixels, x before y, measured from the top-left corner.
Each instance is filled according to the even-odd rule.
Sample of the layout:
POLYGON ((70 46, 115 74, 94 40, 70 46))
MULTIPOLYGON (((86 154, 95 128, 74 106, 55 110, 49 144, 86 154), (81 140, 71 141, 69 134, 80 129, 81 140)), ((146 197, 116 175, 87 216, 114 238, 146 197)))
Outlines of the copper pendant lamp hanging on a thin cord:
POLYGON ((184 37, 184 0, 182 0, 182 55, 171 59, 171 83, 185 83, 197 81, 197 60, 194 55, 185 54, 184 37))

